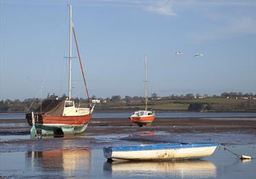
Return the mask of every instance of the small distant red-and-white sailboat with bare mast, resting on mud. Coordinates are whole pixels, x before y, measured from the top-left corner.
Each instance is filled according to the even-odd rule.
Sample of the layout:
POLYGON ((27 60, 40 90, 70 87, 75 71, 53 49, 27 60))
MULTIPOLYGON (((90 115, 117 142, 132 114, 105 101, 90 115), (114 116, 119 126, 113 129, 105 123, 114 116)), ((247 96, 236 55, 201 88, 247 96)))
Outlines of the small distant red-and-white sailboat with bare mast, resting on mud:
POLYGON ((142 127, 143 125, 150 126, 153 120, 155 119, 155 112, 153 110, 147 110, 147 58, 144 56, 145 60, 145 110, 135 111, 129 119, 134 123, 137 123, 138 126, 142 127))

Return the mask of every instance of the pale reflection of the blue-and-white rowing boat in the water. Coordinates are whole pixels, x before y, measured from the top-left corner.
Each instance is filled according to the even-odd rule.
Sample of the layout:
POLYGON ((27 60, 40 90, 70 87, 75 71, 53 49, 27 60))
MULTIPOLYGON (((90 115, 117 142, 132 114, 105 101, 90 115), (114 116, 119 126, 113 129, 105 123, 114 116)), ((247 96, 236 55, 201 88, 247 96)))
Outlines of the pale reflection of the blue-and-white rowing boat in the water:
POLYGON ((184 178, 215 178, 215 165, 206 160, 183 160, 169 162, 105 162, 104 169, 111 172, 111 176, 145 176, 168 174, 173 177, 184 178))

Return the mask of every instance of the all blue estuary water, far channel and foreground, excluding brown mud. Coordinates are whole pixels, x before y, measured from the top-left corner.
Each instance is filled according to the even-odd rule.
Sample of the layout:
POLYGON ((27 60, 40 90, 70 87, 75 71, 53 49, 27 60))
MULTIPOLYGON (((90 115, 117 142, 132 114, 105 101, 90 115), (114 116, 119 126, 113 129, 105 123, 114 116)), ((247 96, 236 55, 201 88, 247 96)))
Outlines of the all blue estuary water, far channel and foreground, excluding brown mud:
MULTIPOLYGON (((100 123, 103 118, 113 121, 118 117, 128 117, 130 114, 130 112, 95 112, 93 117, 101 118, 98 119, 100 123)), ((156 115, 165 118, 195 117, 213 120, 255 120, 256 118, 256 112, 157 112, 156 115)), ((256 158, 256 141, 253 132, 175 133, 172 130, 174 127, 170 126, 169 132, 145 128, 143 133, 140 130, 131 132, 130 130, 136 126, 130 126, 128 132, 118 133, 118 130, 121 131, 127 126, 117 126, 116 130, 107 133, 107 130, 111 130, 114 126, 103 125, 91 126, 91 133, 88 132, 88 128, 81 135, 30 139, 28 123, 22 120, 24 117, 23 113, 0 114, 0 121, 6 119, 0 123, 0 130, 3 130, 0 131, 0 178, 256 178, 255 159, 239 160, 237 156, 224 150, 223 146, 203 160, 109 163, 103 156, 103 147, 134 145, 154 137, 156 141, 172 139, 193 143, 206 141, 226 143, 226 145, 229 143, 225 147, 232 152, 256 158), (21 120, 10 120, 9 123, 8 119, 21 120), (4 134, 4 131, 9 133, 4 134), (127 136, 141 139, 140 141, 124 140, 127 136)))

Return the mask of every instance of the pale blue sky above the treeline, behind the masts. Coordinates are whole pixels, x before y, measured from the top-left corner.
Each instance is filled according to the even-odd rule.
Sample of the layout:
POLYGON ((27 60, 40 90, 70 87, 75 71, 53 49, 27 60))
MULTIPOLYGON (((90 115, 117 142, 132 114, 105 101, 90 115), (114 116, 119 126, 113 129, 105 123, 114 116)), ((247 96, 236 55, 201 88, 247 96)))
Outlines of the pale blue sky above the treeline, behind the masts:
POLYGON ((67 4, 90 95, 256 93, 256 0, 0 0, 0 99, 67 94, 67 4))

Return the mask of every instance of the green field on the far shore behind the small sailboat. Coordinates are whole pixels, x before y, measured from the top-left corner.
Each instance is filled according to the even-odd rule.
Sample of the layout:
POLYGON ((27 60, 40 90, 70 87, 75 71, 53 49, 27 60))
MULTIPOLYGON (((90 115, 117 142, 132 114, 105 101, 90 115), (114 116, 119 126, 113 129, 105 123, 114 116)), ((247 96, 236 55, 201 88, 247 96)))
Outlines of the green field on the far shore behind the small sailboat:
MULTIPOLYGON (((187 110, 190 104, 200 103, 206 106, 208 110, 216 111, 246 111, 256 110, 256 100, 253 99, 226 99, 226 98, 204 98, 204 99, 160 99, 149 101, 148 108, 153 110, 187 110)), ((107 104, 101 106, 101 109, 109 110, 143 110, 145 104, 143 100, 132 101, 129 104, 107 104)), ((204 110, 202 108, 202 110, 204 110)))

